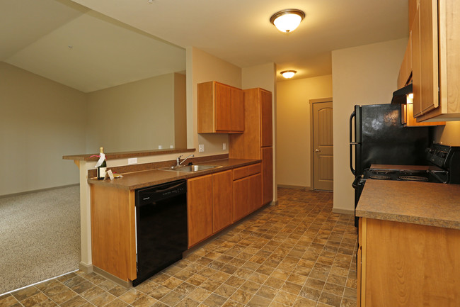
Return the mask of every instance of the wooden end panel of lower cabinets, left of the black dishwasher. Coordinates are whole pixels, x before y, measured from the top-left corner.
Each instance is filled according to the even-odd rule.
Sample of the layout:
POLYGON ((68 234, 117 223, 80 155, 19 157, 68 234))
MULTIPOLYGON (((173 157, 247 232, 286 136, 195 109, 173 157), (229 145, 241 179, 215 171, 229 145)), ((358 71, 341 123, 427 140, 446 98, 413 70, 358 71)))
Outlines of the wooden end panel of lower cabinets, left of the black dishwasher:
POLYGON ((125 281, 133 277, 133 211, 129 191, 91 184, 93 265, 125 281))

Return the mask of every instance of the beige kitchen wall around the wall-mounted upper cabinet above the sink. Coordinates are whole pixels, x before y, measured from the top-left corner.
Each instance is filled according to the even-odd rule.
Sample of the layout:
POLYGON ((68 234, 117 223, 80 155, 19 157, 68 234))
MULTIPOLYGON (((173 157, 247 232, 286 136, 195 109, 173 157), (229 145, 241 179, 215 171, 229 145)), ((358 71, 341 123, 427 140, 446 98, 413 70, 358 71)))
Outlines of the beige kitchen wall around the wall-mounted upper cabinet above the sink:
POLYGON ((187 48, 187 144, 196 148, 195 155, 219 155, 228 153, 227 133, 197 133, 197 84, 217 81, 241 89, 241 68, 197 49, 187 48), (222 150, 226 143, 226 150, 222 150), (205 145, 205 152, 198 152, 198 145, 205 145))

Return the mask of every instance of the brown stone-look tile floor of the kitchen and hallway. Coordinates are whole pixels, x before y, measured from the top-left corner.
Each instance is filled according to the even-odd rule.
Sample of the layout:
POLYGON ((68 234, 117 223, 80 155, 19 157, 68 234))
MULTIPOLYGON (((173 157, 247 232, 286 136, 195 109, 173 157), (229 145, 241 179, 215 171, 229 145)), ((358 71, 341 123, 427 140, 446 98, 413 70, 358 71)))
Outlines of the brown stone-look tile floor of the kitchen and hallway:
POLYGON ((134 289, 75 272, 0 296, 0 307, 356 306, 353 217, 332 213, 329 192, 278 199, 134 289))

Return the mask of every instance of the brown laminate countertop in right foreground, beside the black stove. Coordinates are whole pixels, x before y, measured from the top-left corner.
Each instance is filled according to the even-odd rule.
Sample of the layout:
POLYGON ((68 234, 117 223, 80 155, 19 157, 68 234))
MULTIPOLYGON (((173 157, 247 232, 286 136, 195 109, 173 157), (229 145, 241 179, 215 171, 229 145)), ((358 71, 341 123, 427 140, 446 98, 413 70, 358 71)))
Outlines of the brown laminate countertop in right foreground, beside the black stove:
POLYGON ((356 216, 460 230, 460 184, 367 179, 356 216))

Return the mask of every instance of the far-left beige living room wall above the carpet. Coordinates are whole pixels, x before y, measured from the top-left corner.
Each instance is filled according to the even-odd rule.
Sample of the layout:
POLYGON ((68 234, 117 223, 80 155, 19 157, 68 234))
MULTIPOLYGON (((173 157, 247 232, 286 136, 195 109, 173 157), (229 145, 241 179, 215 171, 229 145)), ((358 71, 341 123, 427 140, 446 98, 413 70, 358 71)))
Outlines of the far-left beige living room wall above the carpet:
POLYGON ((79 182, 86 95, 0 62, 0 195, 79 182))

